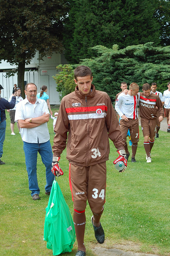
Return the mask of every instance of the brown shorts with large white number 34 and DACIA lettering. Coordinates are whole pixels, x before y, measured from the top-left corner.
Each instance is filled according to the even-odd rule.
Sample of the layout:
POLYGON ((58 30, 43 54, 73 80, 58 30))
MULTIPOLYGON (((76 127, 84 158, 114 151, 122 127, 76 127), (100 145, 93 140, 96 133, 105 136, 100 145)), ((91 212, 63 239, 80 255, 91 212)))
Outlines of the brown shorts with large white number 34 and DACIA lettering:
POLYGON ((75 210, 85 210, 88 200, 93 213, 101 212, 105 204, 106 162, 88 167, 69 164, 69 184, 75 210))

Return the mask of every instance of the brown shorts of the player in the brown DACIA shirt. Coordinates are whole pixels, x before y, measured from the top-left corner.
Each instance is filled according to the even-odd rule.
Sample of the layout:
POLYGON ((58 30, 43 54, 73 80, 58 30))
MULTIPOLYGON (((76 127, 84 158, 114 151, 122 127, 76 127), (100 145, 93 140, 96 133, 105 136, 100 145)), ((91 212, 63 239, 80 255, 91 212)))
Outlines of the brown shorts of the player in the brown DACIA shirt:
POLYGON ((140 119, 143 136, 154 138, 156 134, 156 119, 140 119))

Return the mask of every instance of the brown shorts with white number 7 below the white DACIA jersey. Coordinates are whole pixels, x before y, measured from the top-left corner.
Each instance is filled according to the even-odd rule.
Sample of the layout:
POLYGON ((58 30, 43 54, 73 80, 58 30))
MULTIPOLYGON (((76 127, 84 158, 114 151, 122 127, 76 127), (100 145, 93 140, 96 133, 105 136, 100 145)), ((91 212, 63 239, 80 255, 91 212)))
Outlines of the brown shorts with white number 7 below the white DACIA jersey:
POLYGON ((137 143, 139 141, 139 121, 138 119, 128 119, 128 122, 125 120, 120 121, 121 133, 123 136, 123 142, 127 140, 128 129, 130 131, 132 143, 137 143))

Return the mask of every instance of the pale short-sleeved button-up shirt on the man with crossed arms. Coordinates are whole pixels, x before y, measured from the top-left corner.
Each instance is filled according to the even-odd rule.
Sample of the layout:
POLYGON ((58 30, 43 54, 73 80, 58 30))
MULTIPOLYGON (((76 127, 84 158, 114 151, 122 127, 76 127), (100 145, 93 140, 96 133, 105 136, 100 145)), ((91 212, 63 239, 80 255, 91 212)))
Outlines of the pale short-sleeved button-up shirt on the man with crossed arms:
MULTIPOLYGON (((32 104, 27 98, 19 102, 16 106, 15 122, 27 118, 35 118, 43 114, 49 114, 48 106, 45 100, 37 99, 32 104)), ((49 131, 47 123, 41 124, 35 128, 20 128, 22 140, 28 143, 44 143, 49 140, 49 131)))

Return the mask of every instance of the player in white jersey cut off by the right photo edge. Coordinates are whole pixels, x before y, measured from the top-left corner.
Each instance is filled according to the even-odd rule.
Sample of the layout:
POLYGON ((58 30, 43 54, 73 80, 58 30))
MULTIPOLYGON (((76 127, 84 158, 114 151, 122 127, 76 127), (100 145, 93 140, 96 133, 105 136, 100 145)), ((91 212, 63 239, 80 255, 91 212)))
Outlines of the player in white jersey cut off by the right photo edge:
POLYGON ((165 116, 168 124, 167 132, 170 132, 170 82, 168 82, 168 90, 164 91, 163 97, 164 97, 164 110, 165 110, 165 116))

